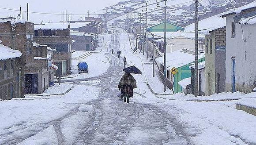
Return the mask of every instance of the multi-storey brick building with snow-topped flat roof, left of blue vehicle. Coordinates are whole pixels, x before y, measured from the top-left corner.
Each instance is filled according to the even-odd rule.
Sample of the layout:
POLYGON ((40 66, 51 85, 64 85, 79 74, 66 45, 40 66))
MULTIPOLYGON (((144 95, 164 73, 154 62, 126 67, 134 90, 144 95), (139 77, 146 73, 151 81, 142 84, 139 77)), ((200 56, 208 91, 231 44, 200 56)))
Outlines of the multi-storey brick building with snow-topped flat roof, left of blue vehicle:
POLYGON ((70 25, 48 23, 34 26, 34 42, 47 45, 55 49, 53 51, 53 64, 58 69, 56 76, 71 74, 71 36, 70 25))

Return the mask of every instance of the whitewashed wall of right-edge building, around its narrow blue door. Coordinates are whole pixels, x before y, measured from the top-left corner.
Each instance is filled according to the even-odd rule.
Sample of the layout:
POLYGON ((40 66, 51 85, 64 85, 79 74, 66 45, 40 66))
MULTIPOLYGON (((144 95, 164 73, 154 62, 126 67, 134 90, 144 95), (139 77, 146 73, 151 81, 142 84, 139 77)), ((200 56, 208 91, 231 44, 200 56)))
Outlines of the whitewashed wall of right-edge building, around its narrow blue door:
POLYGON ((226 91, 232 91, 232 59, 235 57, 236 91, 252 92, 256 81, 256 24, 242 25, 235 23, 235 37, 231 38, 231 24, 235 15, 226 17, 226 91))

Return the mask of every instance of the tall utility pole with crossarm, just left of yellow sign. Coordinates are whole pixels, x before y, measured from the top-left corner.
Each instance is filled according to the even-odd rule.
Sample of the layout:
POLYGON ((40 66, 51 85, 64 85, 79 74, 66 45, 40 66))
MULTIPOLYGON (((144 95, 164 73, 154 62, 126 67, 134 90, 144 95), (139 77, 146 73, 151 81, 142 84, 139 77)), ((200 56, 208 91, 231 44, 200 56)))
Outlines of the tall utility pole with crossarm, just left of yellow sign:
MULTIPOLYGON (((164 14, 165 14, 165 22, 164 22, 164 92, 166 91, 166 1, 167 0, 163 0, 165 1, 165 5, 164 5, 164 14)), ((161 7, 159 6, 159 4, 157 4, 157 7, 161 7)))

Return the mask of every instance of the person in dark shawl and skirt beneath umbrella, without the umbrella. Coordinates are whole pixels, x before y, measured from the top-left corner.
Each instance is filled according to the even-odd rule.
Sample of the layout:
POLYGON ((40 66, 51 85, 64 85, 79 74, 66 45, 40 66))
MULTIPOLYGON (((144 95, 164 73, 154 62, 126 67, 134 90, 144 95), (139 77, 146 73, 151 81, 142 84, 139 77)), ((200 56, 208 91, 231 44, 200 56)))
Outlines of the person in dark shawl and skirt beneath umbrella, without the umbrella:
POLYGON ((129 103, 129 99, 133 96, 133 89, 136 87, 136 80, 132 74, 125 72, 118 84, 118 88, 121 89, 122 93, 121 98, 124 97, 124 102, 126 102, 127 98, 127 103, 129 103))

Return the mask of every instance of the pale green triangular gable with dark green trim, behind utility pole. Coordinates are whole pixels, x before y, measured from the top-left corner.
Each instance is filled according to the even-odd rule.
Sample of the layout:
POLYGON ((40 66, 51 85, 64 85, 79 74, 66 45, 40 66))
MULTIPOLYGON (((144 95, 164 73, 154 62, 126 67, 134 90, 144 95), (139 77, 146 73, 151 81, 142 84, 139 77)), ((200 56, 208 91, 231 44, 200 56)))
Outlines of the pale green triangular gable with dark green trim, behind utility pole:
MULTIPOLYGON (((164 24, 165 22, 152 25, 148 27, 147 30, 149 32, 164 32, 164 24)), ((166 32, 177 32, 177 31, 184 31, 184 28, 172 22, 166 22, 166 32)))

